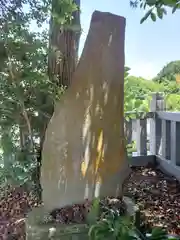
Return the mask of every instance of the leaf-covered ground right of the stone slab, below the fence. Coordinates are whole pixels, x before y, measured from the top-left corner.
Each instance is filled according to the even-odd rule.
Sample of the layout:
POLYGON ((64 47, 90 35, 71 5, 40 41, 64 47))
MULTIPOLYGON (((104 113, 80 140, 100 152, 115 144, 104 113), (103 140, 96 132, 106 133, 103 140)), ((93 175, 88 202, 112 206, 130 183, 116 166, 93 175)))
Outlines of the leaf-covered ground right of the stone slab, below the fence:
POLYGON ((145 215, 146 228, 165 227, 169 234, 180 235, 180 183, 157 167, 137 167, 125 184, 145 215))

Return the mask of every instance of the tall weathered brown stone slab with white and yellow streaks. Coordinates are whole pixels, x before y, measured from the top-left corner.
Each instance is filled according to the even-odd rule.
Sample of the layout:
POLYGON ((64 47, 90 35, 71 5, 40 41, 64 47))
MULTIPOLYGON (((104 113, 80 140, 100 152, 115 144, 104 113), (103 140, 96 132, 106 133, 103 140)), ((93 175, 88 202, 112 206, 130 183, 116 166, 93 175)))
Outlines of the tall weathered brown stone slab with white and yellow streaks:
POLYGON ((129 174, 123 122, 125 19, 95 11, 73 83, 55 106, 42 152, 48 210, 121 195, 129 174))

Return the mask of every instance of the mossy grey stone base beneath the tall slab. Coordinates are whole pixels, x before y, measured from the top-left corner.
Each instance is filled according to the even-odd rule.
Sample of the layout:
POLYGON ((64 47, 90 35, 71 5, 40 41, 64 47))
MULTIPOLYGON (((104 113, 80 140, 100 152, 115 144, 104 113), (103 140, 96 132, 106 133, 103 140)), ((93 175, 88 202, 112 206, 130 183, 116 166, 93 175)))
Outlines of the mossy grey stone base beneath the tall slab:
MULTIPOLYGON (((123 200, 127 205, 129 215, 134 215, 136 205, 128 198, 123 200)), ((26 240, 88 240, 86 224, 50 223, 48 213, 43 207, 34 208, 26 218, 26 240)))

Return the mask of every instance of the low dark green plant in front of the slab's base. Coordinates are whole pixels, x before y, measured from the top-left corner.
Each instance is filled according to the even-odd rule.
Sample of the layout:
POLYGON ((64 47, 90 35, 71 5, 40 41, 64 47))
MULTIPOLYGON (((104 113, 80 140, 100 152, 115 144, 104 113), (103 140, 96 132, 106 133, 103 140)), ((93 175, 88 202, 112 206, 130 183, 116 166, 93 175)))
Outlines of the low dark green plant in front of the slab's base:
MULTIPOLYGON (((97 206, 95 207, 97 208, 97 206)), ((159 227, 153 228, 150 236, 142 234, 136 225, 136 219, 122 216, 117 209, 106 208, 98 221, 89 228, 90 240, 167 240, 167 232, 159 227)))

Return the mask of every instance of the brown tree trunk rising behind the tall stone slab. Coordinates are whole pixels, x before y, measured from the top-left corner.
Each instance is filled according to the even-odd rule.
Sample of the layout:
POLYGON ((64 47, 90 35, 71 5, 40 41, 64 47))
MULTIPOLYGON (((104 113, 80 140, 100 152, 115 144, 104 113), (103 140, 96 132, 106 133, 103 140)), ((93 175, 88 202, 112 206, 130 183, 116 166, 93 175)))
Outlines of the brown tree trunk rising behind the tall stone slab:
MULTIPOLYGON (((52 0, 52 11, 56 6, 57 0, 52 0)), ((80 7, 80 0, 75 0, 75 3, 80 7)), ((58 12, 57 12, 58 14, 58 12)), ((60 13, 59 13, 60 14, 60 13)), ((48 57, 48 75, 51 81, 55 81, 57 87, 68 87, 72 81, 72 75, 75 71, 78 61, 80 39, 80 12, 73 13, 73 21, 67 29, 63 25, 58 24, 51 18, 50 35, 49 35, 49 57, 48 57)), ((47 98, 42 99, 42 104, 46 103, 47 98)), ((52 116, 54 106, 48 107, 47 112, 52 116)), ((40 149, 37 157, 37 187, 38 195, 41 199, 41 151, 44 142, 44 135, 49 119, 42 116, 42 131, 40 133, 40 149)))

